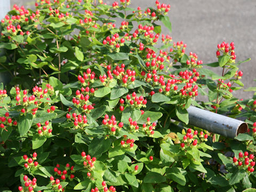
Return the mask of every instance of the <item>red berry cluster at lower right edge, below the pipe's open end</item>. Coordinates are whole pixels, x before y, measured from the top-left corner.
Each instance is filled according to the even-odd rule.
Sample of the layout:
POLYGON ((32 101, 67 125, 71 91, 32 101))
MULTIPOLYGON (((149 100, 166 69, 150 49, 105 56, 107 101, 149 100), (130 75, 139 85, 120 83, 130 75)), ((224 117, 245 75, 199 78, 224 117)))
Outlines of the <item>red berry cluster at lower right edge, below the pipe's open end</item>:
POLYGON ((247 173, 252 173, 254 171, 254 155, 250 154, 245 151, 244 154, 240 152, 238 154, 238 159, 236 157, 233 157, 233 162, 235 165, 238 166, 239 169, 244 169, 247 171, 247 173))

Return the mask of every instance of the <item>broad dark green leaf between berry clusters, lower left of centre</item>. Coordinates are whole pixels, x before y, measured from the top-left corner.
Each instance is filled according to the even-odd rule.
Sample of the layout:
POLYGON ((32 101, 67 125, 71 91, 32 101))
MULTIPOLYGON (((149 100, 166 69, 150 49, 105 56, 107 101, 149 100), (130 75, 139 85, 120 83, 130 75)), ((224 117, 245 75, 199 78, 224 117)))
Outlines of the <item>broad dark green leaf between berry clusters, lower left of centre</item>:
POLYGON ((93 157, 95 156, 99 158, 103 153, 105 153, 109 149, 111 144, 112 141, 110 139, 105 139, 105 137, 95 137, 89 145, 88 153, 93 157))

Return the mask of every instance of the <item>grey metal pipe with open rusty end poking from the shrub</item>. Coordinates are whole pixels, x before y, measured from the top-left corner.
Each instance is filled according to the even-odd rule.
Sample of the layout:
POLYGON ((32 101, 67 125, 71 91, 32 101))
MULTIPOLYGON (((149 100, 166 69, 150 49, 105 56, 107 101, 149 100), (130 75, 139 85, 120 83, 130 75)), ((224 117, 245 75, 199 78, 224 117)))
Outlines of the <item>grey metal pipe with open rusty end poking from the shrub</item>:
POLYGON ((239 133, 246 133, 247 123, 224 115, 212 113, 197 107, 190 106, 188 109, 189 125, 218 133, 225 137, 234 138, 239 133))

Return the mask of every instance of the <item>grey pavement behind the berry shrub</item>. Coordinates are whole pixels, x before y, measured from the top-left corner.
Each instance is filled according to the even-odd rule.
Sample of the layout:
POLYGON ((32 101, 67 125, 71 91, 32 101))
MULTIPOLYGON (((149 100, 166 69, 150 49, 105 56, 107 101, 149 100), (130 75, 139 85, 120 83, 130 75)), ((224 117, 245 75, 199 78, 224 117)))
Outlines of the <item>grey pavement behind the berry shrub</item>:
MULTIPOLYGON (((1 0, 4 1, 4 0, 1 0)), ((116 0, 117 1, 117 0, 116 0)), ((11 4, 34 7, 31 0, 11 0, 11 4)), ((104 1, 111 5, 113 1, 104 1)), ((119 2, 119 1, 118 1, 119 2)), ((154 6, 155 0, 131 0, 131 6, 145 9, 154 6)), ((165 27, 164 34, 169 34, 173 40, 187 43, 187 53, 197 53, 204 63, 217 61, 215 52, 217 44, 222 41, 234 42, 237 61, 251 58, 243 63, 242 82, 245 89, 256 86, 256 1, 255 0, 159 0, 171 4, 169 12, 172 22, 172 33, 165 27)), ((214 69, 221 75, 221 69, 214 69)), ((237 98, 251 98, 253 92, 243 90, 233 92, 237 98)))

